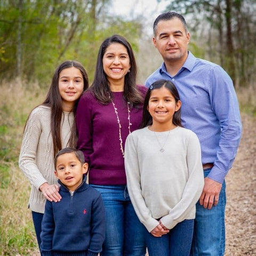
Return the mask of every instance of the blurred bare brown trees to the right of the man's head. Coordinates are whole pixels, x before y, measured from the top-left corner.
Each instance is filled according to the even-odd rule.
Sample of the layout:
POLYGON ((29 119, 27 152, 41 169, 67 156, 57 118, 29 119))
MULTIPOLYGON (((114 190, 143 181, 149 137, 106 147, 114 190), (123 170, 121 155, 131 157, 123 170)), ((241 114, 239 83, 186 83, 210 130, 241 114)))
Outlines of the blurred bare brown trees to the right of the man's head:
POLYGON ((166 10, 189 17, 188 27, 204 58, 226 69, 236 87, 255 79, 256 2, 254 0, 170 1, 166 10))

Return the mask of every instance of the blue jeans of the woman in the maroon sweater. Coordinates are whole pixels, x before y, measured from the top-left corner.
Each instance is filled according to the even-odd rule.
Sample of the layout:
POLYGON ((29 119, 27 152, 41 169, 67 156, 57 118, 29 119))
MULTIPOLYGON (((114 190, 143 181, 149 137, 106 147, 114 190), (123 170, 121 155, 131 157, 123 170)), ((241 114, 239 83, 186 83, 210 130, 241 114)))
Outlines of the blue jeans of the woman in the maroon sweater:
POLYGON ((144 226, 139 221, 125 185, 90 185, 102 196, 106 238, 102 256, 145 256, 144 226))

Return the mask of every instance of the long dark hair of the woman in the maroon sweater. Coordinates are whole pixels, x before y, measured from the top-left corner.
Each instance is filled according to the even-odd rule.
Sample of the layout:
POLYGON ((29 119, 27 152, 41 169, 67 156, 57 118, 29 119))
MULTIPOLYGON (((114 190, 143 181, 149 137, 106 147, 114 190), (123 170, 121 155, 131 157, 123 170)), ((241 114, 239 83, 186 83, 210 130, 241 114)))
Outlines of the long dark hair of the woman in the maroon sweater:
POLYGON ((95 68, 94 81, 89 90, 93 91, 95 98, 97 98, 100 103, 108 104, 111 102, 112 93, 109 88, 107 75, 103 70, 102 59, 107 47, 113 43, 122 44, 126 48, 130 59, 130 72, 124 77, 124 99, 130 102, 132 106, 139 105, 143 102, 143 98, 136 86, 137 65, 132 47, 123 36, 113 35, 106 38, 101 44, 95 68))

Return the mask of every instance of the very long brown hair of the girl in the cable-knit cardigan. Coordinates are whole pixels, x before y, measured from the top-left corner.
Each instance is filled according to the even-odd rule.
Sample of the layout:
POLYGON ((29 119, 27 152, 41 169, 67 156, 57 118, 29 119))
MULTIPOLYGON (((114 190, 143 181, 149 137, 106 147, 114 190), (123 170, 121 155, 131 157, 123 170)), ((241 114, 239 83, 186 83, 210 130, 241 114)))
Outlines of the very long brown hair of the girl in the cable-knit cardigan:
MULTIPOLYGON (((89 87, 88 76, 83 65, 78 61, 71 61, 71 60, 64 61, 55 70, 54 75, 52 77, 50 89, 46 95, 46 99, 42 103, 42 105, 48 106, 51 108, 51 133, 52 133, 52 140, 53 140, 54 156, 62 148, 61 117, 62 117, 63 109, 62 109, 62 101, 61 101, 61 96, 59 91, 59 76, 63 69, 71 68, 71 67, 75 67, 81 71, 81 74, 83 76, 83 82, 84 82, 83 91, 85 91, 89 87)), ((74 118, 76 117, 78 100, 79 99, 76 100, 73 110, 71 111, 74 113, 74 118)), ((76 147, 76 143, 77 143, 77 131, 76 131, 76 122, 74 121, 71 127, 71 134, 70 134, 68 144, 70 147, 76 147)))

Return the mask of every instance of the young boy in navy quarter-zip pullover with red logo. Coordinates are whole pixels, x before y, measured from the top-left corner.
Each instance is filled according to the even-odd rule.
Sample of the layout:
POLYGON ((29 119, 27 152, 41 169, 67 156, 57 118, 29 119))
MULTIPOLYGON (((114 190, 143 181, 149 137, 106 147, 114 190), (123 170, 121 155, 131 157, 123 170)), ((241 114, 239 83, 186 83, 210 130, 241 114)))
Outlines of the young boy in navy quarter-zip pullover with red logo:
POLYGON ((105 239, 100 193, 85 181, 88 164, 82 151, 64 148, 54 159, 61 201, 47 201, 42 222, 43 256, 97 256, 105 239))

